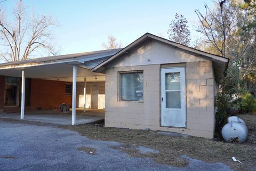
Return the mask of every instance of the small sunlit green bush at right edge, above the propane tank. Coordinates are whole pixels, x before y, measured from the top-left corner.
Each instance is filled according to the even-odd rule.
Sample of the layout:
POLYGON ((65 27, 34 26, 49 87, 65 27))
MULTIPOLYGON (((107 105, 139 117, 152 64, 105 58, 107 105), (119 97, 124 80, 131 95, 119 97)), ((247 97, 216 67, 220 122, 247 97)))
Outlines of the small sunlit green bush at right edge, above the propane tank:
POLYGON ((242 112, 256 112, 256 99, 251 93, 245 93, 240 99, 239 110, 242 112))

